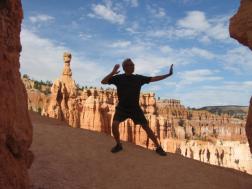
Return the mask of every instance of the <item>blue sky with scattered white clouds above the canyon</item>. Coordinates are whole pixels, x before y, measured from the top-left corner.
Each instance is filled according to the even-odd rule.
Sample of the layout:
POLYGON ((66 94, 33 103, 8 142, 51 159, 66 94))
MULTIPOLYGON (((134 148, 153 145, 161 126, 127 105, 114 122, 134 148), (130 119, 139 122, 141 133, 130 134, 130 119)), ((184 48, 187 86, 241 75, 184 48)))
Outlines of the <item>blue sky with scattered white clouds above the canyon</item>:
MULTIPOLYGON (((80 86, 100 81, 126 58, 135 73, 174 74, 142 92, 186 107, 249 104, 252 52, 229 37, 239 0, 22 0, 21 74, 55 81, 71 52, 80 86)), ((120 68, 120 73, 123 73, 120 68)))

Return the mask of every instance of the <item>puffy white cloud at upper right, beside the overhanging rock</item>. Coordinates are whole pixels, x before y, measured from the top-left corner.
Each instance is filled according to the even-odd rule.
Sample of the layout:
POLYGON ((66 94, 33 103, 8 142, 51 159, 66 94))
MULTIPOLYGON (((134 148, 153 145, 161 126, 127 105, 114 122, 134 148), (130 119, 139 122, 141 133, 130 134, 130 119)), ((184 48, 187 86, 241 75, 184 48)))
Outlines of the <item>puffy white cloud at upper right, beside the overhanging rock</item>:
POLYGON ((209 43, 212 39, 228 42, 228 18, 228 16, 207 18, 202 11, 190 11, 184 18, 179 19, 175 26, 150 30, 146 33, 150 37, 197 39, 203 43, 209 43))

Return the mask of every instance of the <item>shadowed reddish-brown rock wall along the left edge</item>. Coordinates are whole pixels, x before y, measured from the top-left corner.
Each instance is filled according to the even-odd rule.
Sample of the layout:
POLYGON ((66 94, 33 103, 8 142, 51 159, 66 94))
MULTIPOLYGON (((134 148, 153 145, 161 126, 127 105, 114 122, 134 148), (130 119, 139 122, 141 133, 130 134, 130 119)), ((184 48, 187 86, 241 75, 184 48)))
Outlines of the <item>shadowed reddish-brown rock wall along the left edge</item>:
POLYGON ((0 1, 0 188, 29 188, 32 125, 19 72, 20 0, 0 1))

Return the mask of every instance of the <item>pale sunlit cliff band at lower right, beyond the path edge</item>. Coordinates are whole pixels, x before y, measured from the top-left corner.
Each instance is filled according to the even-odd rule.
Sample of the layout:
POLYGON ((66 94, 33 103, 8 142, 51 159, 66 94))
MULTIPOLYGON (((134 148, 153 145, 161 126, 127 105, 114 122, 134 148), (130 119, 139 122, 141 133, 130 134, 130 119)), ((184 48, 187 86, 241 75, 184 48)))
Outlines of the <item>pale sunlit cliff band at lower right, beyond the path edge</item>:
POLYGON ((229 167, 252 174, 252 158, 248 143, 166 139, 164 149, 201 162, 229 167))

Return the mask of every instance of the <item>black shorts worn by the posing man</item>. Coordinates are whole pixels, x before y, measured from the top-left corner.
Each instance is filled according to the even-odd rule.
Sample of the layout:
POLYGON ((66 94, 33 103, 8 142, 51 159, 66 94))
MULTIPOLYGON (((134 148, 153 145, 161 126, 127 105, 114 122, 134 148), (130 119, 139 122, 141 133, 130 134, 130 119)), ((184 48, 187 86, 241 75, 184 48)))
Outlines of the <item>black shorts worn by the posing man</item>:
POLYGON ((148 123, 144 116, 143 110, 140 107, 123 108, 117 106, 113 120, 123 122, 127 118, 132 119, 134 124, 140 124, 142 126, 146 126, 148 123))

